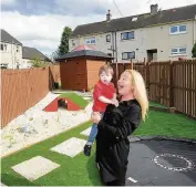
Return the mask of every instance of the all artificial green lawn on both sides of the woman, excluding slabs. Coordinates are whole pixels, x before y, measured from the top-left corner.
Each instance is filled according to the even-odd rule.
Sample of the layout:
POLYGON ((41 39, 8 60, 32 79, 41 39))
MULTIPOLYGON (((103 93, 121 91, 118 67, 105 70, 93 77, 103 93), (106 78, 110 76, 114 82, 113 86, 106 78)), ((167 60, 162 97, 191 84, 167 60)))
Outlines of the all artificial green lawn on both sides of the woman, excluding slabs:
MULTIPOLYGON (((95 146, 90 158, 85 157, 83 153, 70 158, 49 150, 51 147, 73 136, 86 139, 86 136, 80 135, 80 133, 90 125, 91 123, 85 123, 28 149, 2 158, 1 181, 6 185, 14 186, 101 186, 94 162, 95 146), (61 166, 33 183, 28 181, 11 169, 12 166, 38 155, 49 158, 61 166)), ((195 132, 196 122, 194 120, 188 120, 184 115, 149 111, 146 122, 141 124, 134 135, 165 135, 196 139, 195 132)))

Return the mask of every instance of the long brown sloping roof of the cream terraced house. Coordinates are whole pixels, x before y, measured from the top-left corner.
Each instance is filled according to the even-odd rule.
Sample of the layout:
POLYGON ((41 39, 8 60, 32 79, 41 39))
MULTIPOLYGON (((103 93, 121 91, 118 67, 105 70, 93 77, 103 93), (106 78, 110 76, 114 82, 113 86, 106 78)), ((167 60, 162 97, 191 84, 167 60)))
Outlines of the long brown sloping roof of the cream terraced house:
POLYGON ((102 21, 90 24, 78 25, 72 32, 71 37, 87 35, 94 33, 106 33, 112 31, 132 30, 138 28, 146 28, 156 24, 166 24, 177 21, 194 20, 196 14, 196 4, 174 8, 168 10, 158 11, 155 14, 144 13, 131 15, 111 21, 102 21), (136 21, 132 21, 137 18, 136 21))

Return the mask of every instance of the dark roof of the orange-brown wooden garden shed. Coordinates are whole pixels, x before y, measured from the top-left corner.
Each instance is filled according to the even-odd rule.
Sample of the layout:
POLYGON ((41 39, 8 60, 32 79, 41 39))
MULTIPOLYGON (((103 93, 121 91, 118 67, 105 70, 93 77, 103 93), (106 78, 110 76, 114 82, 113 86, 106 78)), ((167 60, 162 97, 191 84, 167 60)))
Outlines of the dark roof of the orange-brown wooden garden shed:
POLYGON ((101 52, 101 51, 93 51, 93 50, 81 50, 81 51, 72 51, 70 53, 63 54, 59 58, 59 60, 64 59, 74 59, 74 58, 81 58, 81 56, 89 56, 89 58, 95 58, 95 59, 113 59, 112 56, 101 52))

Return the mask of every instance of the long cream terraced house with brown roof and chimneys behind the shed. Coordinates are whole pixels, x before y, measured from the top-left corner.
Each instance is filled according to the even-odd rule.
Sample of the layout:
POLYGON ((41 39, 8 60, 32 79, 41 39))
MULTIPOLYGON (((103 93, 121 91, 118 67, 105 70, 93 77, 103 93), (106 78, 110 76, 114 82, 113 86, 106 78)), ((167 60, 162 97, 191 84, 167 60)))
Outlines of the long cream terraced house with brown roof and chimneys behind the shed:
POLYGON ((165 61, 192 58, 196 42, 196 4, 78 25, 69 39, 70 50, 95 46, 114 62, 165 61))

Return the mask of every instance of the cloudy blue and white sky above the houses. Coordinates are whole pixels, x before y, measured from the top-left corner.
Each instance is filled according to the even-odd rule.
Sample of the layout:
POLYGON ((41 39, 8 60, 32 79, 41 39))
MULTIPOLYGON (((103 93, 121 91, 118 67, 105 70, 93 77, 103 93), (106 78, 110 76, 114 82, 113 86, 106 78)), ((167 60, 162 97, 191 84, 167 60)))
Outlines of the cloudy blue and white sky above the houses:
POLYGON ((196 0, 0 0, 4 29, 23 45, 37 48, 49 56, 60 45, 64 27, 104 21, 149 12, 158 3, 162 10, 196 3, 196 0), (115 2, 115 3, 114 3, 115 2), (116 6, 121 13, 118 12, 116 6))

